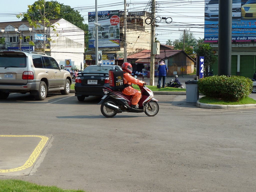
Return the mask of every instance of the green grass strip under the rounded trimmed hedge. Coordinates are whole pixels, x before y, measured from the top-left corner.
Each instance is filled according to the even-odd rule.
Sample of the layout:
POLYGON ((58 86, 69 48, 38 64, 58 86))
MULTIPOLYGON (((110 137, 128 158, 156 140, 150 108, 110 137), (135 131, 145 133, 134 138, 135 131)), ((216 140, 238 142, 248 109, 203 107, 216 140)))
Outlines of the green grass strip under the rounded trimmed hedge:
POLYGON ((217 105, 243 105, 243 104, 256 104, 256 101, 250 97, 246 97, 239 102, 231 102, 231 101, 223 101, 221 99, 214 99, 210 97, 202 97, 199 100, 200 103, 206 103, 206 104, 217 104, 217 105))

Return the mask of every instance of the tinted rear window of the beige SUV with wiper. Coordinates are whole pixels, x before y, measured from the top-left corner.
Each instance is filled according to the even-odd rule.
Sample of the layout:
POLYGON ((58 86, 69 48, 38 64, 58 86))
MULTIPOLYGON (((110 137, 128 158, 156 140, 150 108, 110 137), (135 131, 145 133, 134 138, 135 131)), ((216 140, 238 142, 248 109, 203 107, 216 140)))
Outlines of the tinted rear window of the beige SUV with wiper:
POLYGON ((27 67, 25 55, 0 54, 0 67, 27 67))

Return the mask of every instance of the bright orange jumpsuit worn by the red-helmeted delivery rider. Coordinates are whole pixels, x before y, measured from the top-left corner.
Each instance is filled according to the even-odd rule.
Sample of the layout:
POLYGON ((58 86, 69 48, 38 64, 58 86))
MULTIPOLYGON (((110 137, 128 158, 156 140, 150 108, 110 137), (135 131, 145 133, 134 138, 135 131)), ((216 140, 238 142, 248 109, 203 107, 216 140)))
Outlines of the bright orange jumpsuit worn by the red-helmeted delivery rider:
MULTIPOLYGON (((125 72, 125 71, 124 71, 125 72)), ((136 85, 140 85, 143 86, 143 84, 145 83, 144 81, 135 79, 133 76, 131 76, 130 73, 124 73, 124 84, 136 84, 136 85)), ((132 105, 136 105, 140 99, 141 99, 141 92, 133 89, 131 86, 126 87, 122 90, 122 93, 125 95, 132 95, 132 105)))

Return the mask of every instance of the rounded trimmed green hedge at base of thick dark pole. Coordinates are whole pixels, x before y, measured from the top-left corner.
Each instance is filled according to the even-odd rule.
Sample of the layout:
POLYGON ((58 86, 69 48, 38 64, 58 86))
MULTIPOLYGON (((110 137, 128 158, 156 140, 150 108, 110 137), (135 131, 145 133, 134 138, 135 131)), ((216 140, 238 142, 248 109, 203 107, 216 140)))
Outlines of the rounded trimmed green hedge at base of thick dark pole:
POLYGON ((252 80, 242 76, 211 76, 199 79, 198 91, 207 97, 240 101, 252 92, 252 80))

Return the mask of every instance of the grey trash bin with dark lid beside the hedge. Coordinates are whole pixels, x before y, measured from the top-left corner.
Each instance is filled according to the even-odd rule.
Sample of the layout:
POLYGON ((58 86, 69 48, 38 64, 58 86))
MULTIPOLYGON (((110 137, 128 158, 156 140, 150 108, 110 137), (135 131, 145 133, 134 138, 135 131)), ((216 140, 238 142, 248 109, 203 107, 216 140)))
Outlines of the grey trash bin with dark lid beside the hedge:
POLYGON ((196 103, 199 99, 197 80, 185 81, 186 84, 186 102, 196 103))

